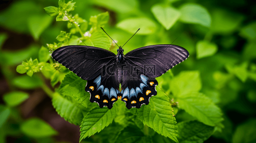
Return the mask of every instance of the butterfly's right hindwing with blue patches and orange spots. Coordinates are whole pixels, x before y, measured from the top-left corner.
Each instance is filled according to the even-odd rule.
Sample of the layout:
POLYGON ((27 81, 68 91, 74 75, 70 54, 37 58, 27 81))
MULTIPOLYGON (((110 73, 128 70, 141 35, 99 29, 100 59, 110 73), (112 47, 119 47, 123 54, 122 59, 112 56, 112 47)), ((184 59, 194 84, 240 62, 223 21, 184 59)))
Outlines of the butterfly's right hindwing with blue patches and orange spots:
MULTIPOLYGON (((158 85, 154 77, 148 77, 143 73, 133 72, 133 66, 126 62, 124 67, 123 82, 121 84, 121 100, 126 103, 126 107, 140 108, 141 105, 148 105, 150 97, 157 94, 158 85)), ((120 77, 119 77, 120 78, 120 77)))

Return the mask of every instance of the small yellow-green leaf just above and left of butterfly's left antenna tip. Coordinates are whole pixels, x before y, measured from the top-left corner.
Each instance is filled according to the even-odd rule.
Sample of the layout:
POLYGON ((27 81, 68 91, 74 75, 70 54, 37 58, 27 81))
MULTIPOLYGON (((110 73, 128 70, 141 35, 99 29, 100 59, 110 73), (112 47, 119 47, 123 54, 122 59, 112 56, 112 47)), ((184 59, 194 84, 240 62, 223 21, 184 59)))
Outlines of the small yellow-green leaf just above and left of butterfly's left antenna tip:
POLYGON ((109 12, 100 13, 97 16, 91 16, 90 22, 91 28, 93 29, 99 29, 101 27, 104 27, 105 24, 107 24, 109 21, 109 12))

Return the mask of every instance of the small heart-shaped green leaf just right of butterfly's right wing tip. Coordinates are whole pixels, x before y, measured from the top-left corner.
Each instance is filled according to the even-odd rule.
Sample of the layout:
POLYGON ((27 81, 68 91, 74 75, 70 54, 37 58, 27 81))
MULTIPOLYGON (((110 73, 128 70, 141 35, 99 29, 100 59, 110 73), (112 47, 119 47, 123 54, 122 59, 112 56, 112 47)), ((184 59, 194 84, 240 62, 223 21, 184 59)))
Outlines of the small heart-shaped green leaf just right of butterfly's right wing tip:
POLYGON ((218 50, 218 46, 215 43, 209 41, 198 41, 196 44, 197 59, 209 57, 214 55, 218 50))

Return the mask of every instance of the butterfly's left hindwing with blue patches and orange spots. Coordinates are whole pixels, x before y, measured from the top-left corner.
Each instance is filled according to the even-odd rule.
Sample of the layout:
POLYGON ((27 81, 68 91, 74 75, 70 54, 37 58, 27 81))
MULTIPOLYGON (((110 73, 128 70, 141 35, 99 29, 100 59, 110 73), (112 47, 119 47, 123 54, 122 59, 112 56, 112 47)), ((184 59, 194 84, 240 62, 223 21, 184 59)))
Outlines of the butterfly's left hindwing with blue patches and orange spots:
POLYGON ((85 91, 90 93, 90 102, 98 103, 100 108, 107 106, 111 109, 118 96, 121 95, 115 62, 112 65, 107 68, 108 72, 104 76, 98 75, 94 79, 87 81, 85 87, 85 91))

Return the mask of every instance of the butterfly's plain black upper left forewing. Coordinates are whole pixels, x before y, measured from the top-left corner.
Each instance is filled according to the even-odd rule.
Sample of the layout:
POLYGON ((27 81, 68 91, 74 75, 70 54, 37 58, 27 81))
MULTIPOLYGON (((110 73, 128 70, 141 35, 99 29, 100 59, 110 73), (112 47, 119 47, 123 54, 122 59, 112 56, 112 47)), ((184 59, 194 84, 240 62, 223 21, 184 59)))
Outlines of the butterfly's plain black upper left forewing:
POLYGON ((102 67, 111 65, 115 56, 108 50, 90 46, 64 46, 52 53, 54 60, 84 80, 94 79, 104 72, 102 67))

